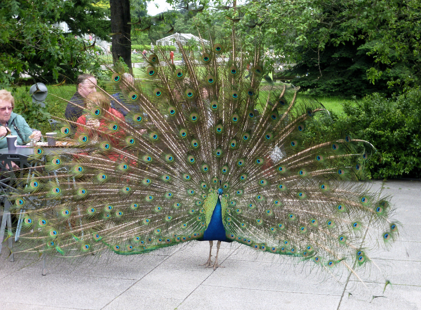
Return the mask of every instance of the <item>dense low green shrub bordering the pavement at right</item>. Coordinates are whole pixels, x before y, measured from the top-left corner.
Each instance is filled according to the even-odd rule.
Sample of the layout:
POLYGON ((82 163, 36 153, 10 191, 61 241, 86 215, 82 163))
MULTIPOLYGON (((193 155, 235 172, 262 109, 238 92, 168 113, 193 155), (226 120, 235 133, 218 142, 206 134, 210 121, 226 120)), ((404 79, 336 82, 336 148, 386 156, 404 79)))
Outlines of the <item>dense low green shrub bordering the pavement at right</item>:
POLYGON ((421 89, 392 99, 375 93, 358 102, 344 102, 344 114, 320 118, 309 138, 344 132, 369 141, 377 152, 368 161, 376 179, 421 178, 421 89))

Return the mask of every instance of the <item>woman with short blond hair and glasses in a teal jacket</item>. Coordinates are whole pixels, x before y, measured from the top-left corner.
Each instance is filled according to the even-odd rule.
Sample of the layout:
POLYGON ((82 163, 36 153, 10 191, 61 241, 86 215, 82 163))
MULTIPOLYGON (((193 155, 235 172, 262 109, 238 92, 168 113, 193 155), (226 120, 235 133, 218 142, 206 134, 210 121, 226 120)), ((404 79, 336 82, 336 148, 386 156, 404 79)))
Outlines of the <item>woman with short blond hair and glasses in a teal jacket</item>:
POLYGON ((15 99, 11 92, 0 90, 0 149, 7 147, 5 136, 9 131, 17 136, 18 145, 27 144, 30 139, 41 138, 41 131, 32 130, 22 116, 12 112, 14 107, 15 99))

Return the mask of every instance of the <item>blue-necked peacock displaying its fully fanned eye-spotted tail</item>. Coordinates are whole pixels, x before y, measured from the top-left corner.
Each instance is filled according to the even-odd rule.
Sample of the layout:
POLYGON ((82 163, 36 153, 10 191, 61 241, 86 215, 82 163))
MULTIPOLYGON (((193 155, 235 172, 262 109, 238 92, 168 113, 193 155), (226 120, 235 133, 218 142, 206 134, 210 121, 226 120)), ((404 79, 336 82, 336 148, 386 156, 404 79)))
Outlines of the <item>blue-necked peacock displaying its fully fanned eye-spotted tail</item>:
POLYGON ((57 141, 74 151, 35 147, 39 165, 10 196, 22 218, 15 254, 134 255, 197 240, 215 270, 221 242, 237 242, 357 274, 371 247, 396 239, 390 197, 358 182, 374 147, 346 132, 312 135, 328 112, 298 87, 264 81, 261 44, 235 25, 204 37, 200 51, 176 40, 174 63, 155 46, 140 79, 104 65, 85 121, 60 120, 57 141))

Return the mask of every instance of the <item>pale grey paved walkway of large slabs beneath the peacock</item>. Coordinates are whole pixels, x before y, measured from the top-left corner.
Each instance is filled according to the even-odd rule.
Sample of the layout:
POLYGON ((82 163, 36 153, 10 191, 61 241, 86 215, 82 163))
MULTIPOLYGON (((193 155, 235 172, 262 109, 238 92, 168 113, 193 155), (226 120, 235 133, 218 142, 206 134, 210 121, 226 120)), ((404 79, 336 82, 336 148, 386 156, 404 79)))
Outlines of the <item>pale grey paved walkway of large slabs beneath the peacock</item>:
MULTIPOLYGON (((381 187, 381 182, 374 182, 381 187)), ((345 309, 421 309, 421 182, 388 181, 400 237, 390 252, 373 258, 385 265, 392 286, 383 297, 384 279, 368 290, 347 292, 345 309)), ((7 252, 3 251, 3 252, 7 252)), ((0 309, 324 309, 336 310, 342 288, 313 273, 308 276, 288 260, 249 247, 223 243, 216 271, 199 266, 208 242, 191 242, 149 255, 110 255, 96 262, 48 263, 0 257, 0 309)))

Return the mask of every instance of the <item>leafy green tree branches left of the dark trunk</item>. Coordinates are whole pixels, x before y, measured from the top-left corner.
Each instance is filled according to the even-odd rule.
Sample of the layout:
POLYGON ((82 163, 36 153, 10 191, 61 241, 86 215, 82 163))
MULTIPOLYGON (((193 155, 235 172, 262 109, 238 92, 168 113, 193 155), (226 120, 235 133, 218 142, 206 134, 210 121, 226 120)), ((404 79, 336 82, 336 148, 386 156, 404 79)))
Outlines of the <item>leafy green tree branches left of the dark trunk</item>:
POLYGON ((99 67, 75 39, 52 26, 61 0, 0 2, 0 87, 19 82, 21 74, 37 81, 67 81, 99 67))

